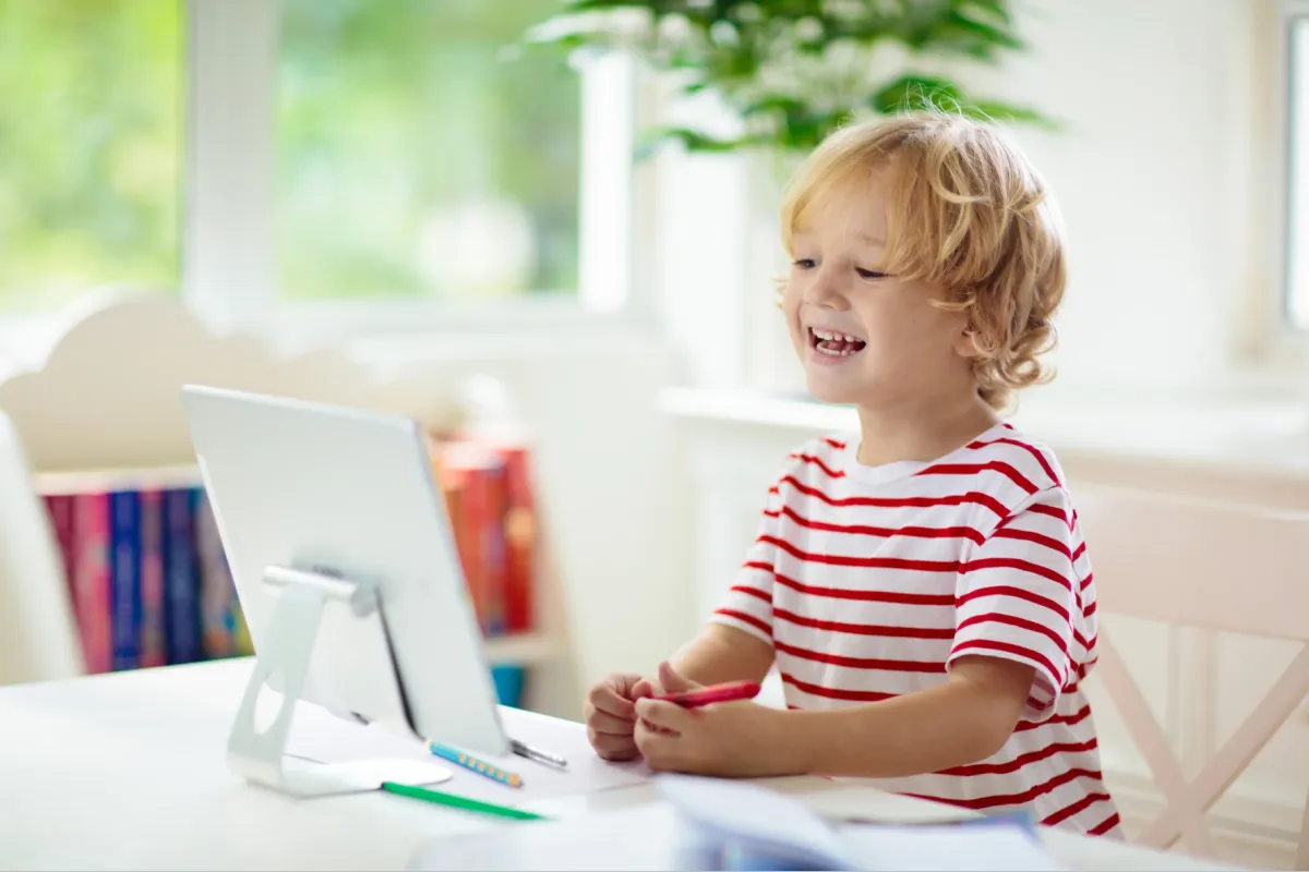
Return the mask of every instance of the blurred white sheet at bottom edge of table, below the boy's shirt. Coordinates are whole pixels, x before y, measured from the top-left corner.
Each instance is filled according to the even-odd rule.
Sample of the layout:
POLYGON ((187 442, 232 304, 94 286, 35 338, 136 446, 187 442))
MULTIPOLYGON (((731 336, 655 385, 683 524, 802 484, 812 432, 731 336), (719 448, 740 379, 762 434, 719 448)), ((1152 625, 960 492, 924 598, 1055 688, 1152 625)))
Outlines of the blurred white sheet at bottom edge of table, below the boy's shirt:
POLYGON ((1021 826, 844 826, 842 841, 865 869, 1058 872, 1064 869, 1021 826))

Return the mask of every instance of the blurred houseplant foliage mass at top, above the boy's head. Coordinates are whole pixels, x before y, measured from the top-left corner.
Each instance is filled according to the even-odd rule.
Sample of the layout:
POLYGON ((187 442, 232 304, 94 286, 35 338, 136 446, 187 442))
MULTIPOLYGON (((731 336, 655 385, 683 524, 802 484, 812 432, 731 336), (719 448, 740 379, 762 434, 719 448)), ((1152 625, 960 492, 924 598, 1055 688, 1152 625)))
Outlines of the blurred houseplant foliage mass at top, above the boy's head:
POLYGON ((571 0, 537 42, 623 48, 678 76, 682 94, 716 94, 734 135, 654 131, 696 152, 808 152, 847 122, 935 107, 1051 127, 1037 110, 973 97, 942 65, 997 65, 1025 48, 1007 0, 571 0), (886 60, 893 72, 885 73, 886 60), (965 61, 965 64, 958 64, 965 61))

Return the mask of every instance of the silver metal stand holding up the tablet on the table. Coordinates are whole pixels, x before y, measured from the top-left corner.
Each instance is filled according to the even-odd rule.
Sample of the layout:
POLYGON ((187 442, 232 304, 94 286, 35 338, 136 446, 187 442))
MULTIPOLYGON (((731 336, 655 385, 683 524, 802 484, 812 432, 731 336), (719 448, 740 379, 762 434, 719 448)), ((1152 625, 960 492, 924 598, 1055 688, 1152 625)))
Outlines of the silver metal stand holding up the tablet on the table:
POLYGON ((276 605, 228 737, 228 763, 233 771, 293 796, 363 792, 378 790, 382 782, 432 784, 450 778, 448 769, 421 760, 317 763, 287 756, 296 703, 305 692, 314 642, 327 609, 338 609, 353 642, 367 641, 372 664, 367 675, 369 707, 380 709, 368 714, 374 720, 406 724, 408 715, 376 586, 285 566, 268 566, 263 584, 276 591, 276 605), (272 723, 260 727, 259 697, 275 693, 270 685, 280 685, 281 701, 272 723))

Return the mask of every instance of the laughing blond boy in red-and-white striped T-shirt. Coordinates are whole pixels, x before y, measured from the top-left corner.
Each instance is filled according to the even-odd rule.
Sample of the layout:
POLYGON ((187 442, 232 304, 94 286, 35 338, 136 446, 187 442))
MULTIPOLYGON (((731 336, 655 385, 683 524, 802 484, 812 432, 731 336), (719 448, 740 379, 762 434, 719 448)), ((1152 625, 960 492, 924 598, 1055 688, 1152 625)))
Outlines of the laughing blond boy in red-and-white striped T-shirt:
POLYGON ((810 773, 1119 835, 1079 684, 1096 586, 1052 452, 1003 424, 1046 378, 1062 229, 1018 149, 915 114, 827 139, 781 209, 783 312, 809 391, 853 404, 770 489, 706 630, 656 679, 592 689, 606 758, 810 773), (788 710, 647 697, 776 665, 788 710))

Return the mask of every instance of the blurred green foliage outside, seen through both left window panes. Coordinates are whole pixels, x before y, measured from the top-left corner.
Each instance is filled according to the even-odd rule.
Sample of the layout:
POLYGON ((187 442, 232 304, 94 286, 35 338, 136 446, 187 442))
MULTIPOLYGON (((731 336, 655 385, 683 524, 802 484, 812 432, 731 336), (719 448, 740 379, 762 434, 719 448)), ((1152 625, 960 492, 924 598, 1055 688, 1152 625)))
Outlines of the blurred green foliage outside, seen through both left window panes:
MULTIPOLYGON (((514 60, 524 30, 560 0, 279 3, 283 294, 576 288, 580 85, 562 56, 514 60), (462 237, 433 242, 487 201, 522 218, 528 275, 496 284, 487 233, 471 254, 462 237), (459 269, 442 271, 461 247, 459 269)), ((177 289, 185 8, 0 0, 0 310, 59 306, 111 281, 177 289)))

